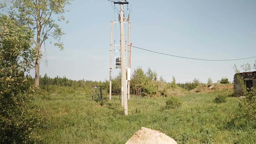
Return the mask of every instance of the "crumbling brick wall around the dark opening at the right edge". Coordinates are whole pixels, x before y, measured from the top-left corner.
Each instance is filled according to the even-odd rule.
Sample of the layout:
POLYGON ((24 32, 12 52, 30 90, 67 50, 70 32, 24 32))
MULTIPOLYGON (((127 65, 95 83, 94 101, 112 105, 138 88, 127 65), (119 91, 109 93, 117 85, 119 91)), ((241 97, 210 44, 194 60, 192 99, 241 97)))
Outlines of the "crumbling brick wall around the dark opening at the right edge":
MULTIPOLYGON (((243 80, 251 79, 253 80, 253 87, 256 88, 256 71, 239 73, 240 78, 243 80)), ((237 75, 234 75, 234 96, 238 96, 239 93, 242 93, 243 89, 240 86, 237 75)))

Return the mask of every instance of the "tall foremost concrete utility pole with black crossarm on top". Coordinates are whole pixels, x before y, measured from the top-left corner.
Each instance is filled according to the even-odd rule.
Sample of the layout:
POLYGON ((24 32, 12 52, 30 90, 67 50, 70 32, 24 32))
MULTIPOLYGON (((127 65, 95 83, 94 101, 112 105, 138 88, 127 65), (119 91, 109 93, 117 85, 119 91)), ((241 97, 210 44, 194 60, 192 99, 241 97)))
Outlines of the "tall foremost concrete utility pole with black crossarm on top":
POLYGON ((128 2, 114 2, 114 4, 120 4, 120 36, 121 36, 121 95, 123 99, 123 106, 125 115, 128 115, 127 106, 127 87, 126 87, 126 70, 125 70, 125 38, 123 30, 123 4, 128 4, 128 2))

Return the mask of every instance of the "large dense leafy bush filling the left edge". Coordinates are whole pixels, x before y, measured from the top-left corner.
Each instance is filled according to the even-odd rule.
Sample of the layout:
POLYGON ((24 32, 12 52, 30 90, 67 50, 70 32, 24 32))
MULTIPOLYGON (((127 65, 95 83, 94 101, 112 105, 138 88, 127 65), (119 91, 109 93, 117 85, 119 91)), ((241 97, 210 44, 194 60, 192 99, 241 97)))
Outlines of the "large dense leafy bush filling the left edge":
POLYGON ((30 109, 34 99, 24 73, 35 59, 32 31, 0 15, 0 143, 34 143, 40 114, 30 109))

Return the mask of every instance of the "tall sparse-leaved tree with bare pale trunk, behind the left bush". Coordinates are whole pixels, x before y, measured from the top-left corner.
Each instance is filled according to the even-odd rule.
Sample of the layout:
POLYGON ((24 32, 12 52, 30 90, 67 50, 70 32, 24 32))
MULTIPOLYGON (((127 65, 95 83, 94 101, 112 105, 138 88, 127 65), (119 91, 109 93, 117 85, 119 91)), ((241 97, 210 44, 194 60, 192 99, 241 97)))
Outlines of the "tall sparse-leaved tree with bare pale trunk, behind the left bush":
POLYGON ((34 30, 35 37, 32 38, 36 46, 37 57, 35 66, 35 87, 39 86, 39 65, 42 56, 42 45, 52 37, 60 50, 63 50, 61 37, 65 34, 57 21, 68 21, 64 17, 65 7, 73 0, 4 0, 1 8, 10 17, 16 18, 21 24, 29 26, 34 30), (56 19, 54 19, 55 17, 56 19))

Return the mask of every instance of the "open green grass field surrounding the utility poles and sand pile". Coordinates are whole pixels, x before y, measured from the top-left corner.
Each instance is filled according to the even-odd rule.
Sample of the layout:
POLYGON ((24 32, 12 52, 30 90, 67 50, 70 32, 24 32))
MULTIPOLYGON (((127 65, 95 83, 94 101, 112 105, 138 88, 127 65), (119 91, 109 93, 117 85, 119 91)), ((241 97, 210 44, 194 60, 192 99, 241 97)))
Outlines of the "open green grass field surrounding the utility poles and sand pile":
MULTIPOLYGON (((182 106, 161 110, 165 97, 128 101, 123 115, 119 96, 103 102, 82 90, 69 94, 38 95, 35 106, 45 109, 48 123, 38 129, 44 143, 125 143, 140 127, 167 134, 178 143, 256 143, 256 125, 233 120, 241 98, 214 103, 216 92, 180 96, 182 106)), ((106 96, 105 96, 106 97, 106 96)))

